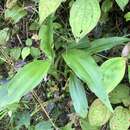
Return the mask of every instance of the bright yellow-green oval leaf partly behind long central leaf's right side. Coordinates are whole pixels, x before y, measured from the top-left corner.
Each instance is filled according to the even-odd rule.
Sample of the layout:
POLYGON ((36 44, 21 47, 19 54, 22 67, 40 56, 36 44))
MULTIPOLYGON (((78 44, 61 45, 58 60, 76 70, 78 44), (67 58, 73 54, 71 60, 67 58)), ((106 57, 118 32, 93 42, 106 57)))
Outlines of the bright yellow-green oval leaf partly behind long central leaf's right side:
POLYGON ((101 65, 104 86, 107 93, 110 93, 123 79, 126 68, 126 59, 116 57, 107 60, 101 65))

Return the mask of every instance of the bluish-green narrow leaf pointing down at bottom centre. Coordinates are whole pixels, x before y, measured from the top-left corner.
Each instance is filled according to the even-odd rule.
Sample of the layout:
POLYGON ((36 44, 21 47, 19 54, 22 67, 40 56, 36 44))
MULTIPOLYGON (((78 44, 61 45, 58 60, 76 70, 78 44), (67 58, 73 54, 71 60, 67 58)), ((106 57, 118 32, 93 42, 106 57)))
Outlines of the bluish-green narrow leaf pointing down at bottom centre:
POLYGON ((75 111, 82 118, 85 118, 88 113, 88 102, 85 90, 81 81, 74 75, 69 78, 69 92, 75 111))

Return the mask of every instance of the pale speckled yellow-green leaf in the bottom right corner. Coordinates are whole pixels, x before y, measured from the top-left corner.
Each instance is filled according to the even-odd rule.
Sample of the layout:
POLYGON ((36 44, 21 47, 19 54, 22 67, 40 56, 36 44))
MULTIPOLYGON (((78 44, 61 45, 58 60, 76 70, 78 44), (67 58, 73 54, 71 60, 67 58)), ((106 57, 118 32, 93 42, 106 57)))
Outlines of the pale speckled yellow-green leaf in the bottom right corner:
POLYGON ((122 106, 116 107, 110 120, 110 130, 128 130, 130 126, 130 111, 122 106))

